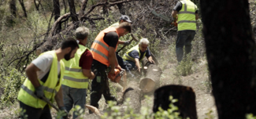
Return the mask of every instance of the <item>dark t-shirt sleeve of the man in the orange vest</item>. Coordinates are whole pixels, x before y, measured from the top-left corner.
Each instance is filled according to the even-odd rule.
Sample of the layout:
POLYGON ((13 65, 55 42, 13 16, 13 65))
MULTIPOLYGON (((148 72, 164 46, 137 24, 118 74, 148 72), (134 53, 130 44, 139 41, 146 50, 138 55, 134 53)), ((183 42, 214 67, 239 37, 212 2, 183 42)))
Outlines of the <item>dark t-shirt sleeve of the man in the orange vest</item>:
POLYGON ((117 42, 118 42, 118 34, 115 31, 111 31, 109 33, 106 33, 105 36, 103 37, 103 41, 106 42, 109 47, 113 47, 116 49, 117 42))

